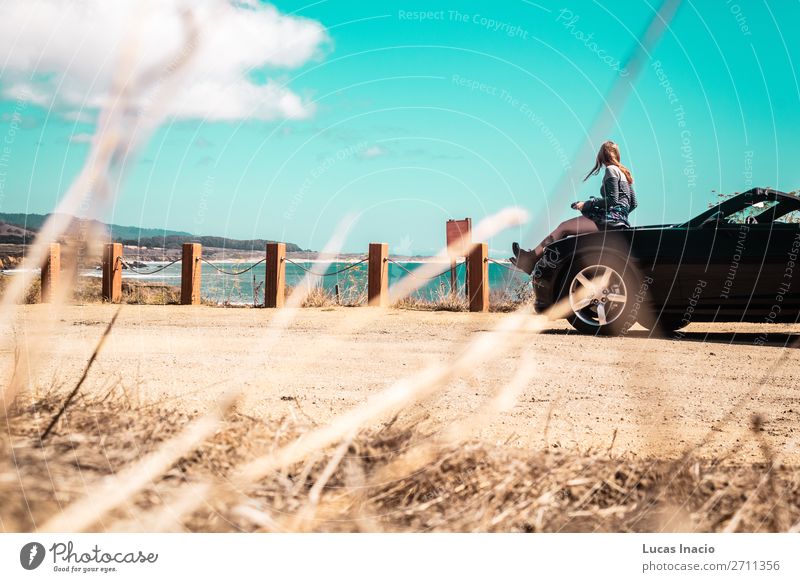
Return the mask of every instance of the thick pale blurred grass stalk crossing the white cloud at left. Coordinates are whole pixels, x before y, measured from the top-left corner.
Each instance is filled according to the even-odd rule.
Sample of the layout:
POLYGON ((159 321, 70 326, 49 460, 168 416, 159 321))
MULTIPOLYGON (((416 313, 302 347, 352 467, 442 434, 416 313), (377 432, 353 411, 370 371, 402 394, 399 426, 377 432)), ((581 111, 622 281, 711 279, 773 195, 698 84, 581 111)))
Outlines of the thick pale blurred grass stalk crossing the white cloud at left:
MULTIPOLYGON (((51 243, 58 242, 65 234, 72 217, 100 218, 113 202, 115 188, 122 182, 124 169, 130 165, 130 157, 135 155, 141 145, 158 125, 165 103, 177 89, 177 79, 184 66, 191 60, 199 38, 199 29, 191 11, 182 13, 185 28, 185 42, 176 55, 167 58, 150 70, 136 75, 139 57, 139 40, 143 36, 146 22, 147 4, 138 5, 131 18, 128 36, 122 43, 122 51, 114 71, 109 97, 103 105, 86 162, 77 178, 68 188, 63 198, 48 216, 33 244, 23 258, 19 276, 11 278, 0 299, 0 333, 8 341, 20 341, 27 333, 15 333, 16 306, 25 297, 33 283, 33 273, 45 260, 51 243), (138 98, 148 89, 155 89, 154 105, 142 111, 137 105, 138 98)), ((81 252, 95 257, 99 253, 99 242, 105 233, 96 227, 82 234, 81 252)), ((73 265, 72 268, 77 268, 73 265)), ((65 276, 52 297, 50 309, 58 312, 65 299, 72 293, 70 283, 77 277, 65 276)), ((56 317, 50 318, 49 329, 40 329, 43 337, 52 337, 56 317)), ((20 357, 15 362, 11 378, 4 383, 2 393, 2 413, 5 415, 13 403, 15 395, 35 375, 33 369, 41 357, 41 349, 46 342, 32 348, 29 342, 20 347, 20 357)))

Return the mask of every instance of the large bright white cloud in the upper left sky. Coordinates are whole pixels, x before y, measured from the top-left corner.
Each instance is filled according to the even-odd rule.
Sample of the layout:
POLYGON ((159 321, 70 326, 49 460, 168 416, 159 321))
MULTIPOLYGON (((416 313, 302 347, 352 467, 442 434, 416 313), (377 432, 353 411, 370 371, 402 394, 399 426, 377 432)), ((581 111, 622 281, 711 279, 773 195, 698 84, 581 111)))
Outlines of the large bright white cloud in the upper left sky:
MULTIPOLYGON (((162 71, 190 47, 167 115, 303 118, 310 105, 274 77, 314 59, 327 41, 320 23, 252 1, 6 0, 0 4, 0 54, 7 59, 0 86, 7 98, 53 106, 69 118, 103 106, 120 55, 132 56, 129 79, 136 79, 162 71), (187 44, 181 20, 187 7, 199 25, 196 44, 187 44)), ((140 107, 153 104, 154 87, 165 77, 157 74, 137 95, 140 107)))

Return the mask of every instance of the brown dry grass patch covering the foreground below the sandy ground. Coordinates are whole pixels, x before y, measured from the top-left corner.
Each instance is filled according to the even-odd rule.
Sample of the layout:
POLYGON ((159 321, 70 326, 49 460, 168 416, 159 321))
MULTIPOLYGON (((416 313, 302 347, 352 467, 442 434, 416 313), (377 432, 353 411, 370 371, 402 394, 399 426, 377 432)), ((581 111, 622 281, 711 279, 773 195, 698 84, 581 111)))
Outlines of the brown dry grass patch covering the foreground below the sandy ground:
MULTIPOLYGON (((83 401, 41 444, 58 402, 16 410, 0 440, 5 531, 32 531, 103 477, 173 437, 190 418, 138 408, 117 390, 83 401)), ((212 438, 95 524, 146 529, 146 516, 224 481, 234 468, 310 427, 233 412, 212 438), (140 521, 143 520, 143 521, 140 521)), ((428 421, 401 417, 365 430, 247 490, 228 489, 189 513, 190 531, 786 531, 800 519, 797 468, 641 459, 607 451, 525 451, 480 442, 434 445, 428 421), (417 445, 433 451, 415 455, 417 445), (333 459, 333 462, 331 462, 333 459), (391 479, 387 468, 391 467, 391 479), (765 476, 766 479, 765 479, 765 476), (320 477, 324 478, 319 486, 320 477), (316 486, 316 487, 315 487, 316 486)), ((758 431, 758 427, 754 427, 758 431)), ((759 438, 753 433, 753 438, 759 438)))

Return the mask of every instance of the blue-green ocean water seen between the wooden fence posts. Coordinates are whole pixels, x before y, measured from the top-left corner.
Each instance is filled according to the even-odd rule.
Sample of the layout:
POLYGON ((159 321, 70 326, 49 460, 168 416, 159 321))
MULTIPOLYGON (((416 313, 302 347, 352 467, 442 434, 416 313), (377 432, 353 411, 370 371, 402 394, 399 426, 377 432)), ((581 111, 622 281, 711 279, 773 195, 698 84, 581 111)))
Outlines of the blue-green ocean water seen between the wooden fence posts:
MULTIPOLYGON (((366 294, 366 263, 356 265, 344 273, 333 274, 336 271, 350 266, 352 263, 320 263, 301 260, 294 260, 294 262, 298 263, 298 265, 286 263, 287 287, 295 287, 301 284, 306 275, 305 268, 312 270, 314 273, 324 272, 328 275, 319 279, 317 286, 324 288, 331 295, 336 295, 338 287, 338 294, 343 303, 352 303, 357 297, 366 294)), ((263 303, 265 278, 264 263, 257 265, 251 271, 242 275, 227 275, 220 273, 214 268, 217 267, 223 271, 237 272, 250 267, 253 263, 254 262, 214 262, 213 266, 208 263, 202 263, 201 295, 204 299, 217 303, 252 304, 255 289, 256 303, 263 303)), ((400 264, 390 262, 389 286, 403 277, 409 276, 404 268, 413 273, 416 269, 422 267, 423 264, 424 263, 419 262, 402 262, 400 264)), ((142 267, 137 270, 147 272, 154 270, 159 265, 163 265, 163 263, 149 263, 147 267, 142 267)), ((450 270, 446 264, 441 265, 441 270, 446 270, 446 272, 440 277, 426 281, 425 284, 415 292, 418 297, 434 299, 450 292, 450 270)), ((456 285, 461 292, 463 292, 464 288, 465 271, 464 263, 459 263, 456 267, 456 285)), ((87 271, 84 275, 93 277, 101 276, 100 271, 87 271)), ((123 280, 129 281, 164 283, 167 285, 180 286, 181 264, 178 262, 154 275, 142 275, 125 270, 122 272, 122 278, 123 280)), ((530 277, 523 273, 511 271, 497 263, 489 263, 489 288, 493 291, 504 290, 513 294, 516 289, 519 289, 529 282, 530 277)))

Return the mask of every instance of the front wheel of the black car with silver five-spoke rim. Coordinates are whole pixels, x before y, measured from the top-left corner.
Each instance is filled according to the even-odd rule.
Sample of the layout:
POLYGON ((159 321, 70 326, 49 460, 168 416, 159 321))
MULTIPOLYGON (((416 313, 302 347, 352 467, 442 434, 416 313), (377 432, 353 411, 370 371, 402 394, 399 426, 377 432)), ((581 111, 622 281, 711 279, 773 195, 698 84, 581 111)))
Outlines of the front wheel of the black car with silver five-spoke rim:
POLYGON ((562 288, 571 312, 567 321, 580 332, 619 335, 636 321, 637 276, 621 259, 577 257, 562 288))

